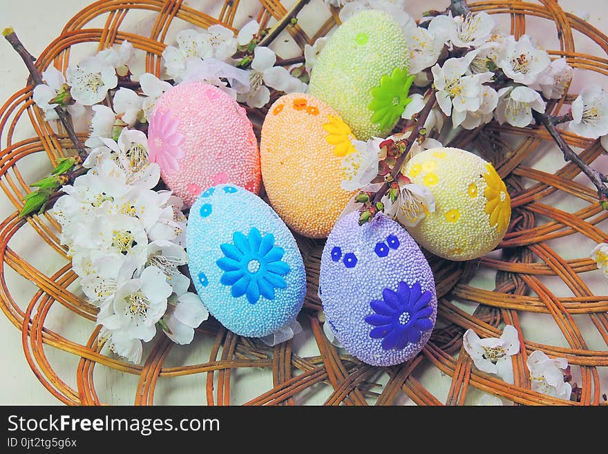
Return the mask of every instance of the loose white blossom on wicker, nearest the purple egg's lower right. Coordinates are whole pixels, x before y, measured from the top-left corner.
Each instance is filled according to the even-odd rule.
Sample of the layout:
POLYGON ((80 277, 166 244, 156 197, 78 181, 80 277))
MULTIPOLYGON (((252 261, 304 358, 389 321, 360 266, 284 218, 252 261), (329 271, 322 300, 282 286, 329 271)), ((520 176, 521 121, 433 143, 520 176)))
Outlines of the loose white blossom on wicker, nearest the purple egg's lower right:
POLYGON ((466 330, 462 343, 477 369, 497 374, 513 383, 511 357, 520 352, 520 339, 515 327, 506 325, 500 338, 485 339, 480 339, 473 330, 466 330))

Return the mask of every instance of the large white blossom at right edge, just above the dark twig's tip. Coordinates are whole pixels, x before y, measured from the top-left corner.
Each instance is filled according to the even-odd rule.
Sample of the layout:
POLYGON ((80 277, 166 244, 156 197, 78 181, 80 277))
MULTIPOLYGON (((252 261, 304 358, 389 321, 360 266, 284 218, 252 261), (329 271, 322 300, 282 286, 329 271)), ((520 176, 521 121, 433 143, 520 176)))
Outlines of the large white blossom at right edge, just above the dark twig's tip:
POLYGON ((570 129, 583 137, 597 139, 608 134, 608 93, 599 85, 583 88, 572 103, 570 129))

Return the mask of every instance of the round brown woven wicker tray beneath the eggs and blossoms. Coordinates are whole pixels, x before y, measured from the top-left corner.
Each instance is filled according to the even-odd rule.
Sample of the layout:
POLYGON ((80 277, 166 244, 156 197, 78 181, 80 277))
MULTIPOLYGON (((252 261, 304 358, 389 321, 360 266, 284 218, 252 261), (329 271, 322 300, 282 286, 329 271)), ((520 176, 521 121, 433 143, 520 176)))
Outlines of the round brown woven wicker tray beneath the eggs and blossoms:
MULTIPOLYGON (((221 4, 217 8, 219 15, 216 18, 184 6, 180 0, 98 1, 67 23, 61 36, 40 55, 37 66, 44 70, 55 65, 65 70, 70 48, 75 44, 93 42, 102 49, 128 39, 135 48, 145 51, 145 70, 158 74, 164 41, 171 34, 171 28, 180 21, 205 28, 214 23, 231 27, 238 8, 243 5, 251 7, 254 3, 257 19, 263 24, 272 26, 274 19, 281 19, 287 14, 287 9, 279 0, 226 0, 217 3, 221 4), (146 10, 155 15, 150 35, 136 35, 121 29, 125 17, 136 10, 146 10), (89 28, 95 19, 96 23, 99 23, 99 19, 105 21, 103 28, 89 28)), ((524 3, 511 0, 471 3, 475 12, 510 15, 511 33, 517 37, 526 30, 526 17, 553 21, 560 43, 559 50, 550 52, 553 57, 564 56, 575 68, 608 75, 607 59, 576 53, 573 30, 589 37, 604 54, 608 53, 608 37, 582 19, 566 14, 557 2, 540 0, 538 3, 524 3)), ((314 30, 313 35, 307 35, 297 25, 290 27, 289 33, 296 44, 303 47, 316 37, 325 35, 336 23, 336 18, 336 10, 331 15, 327 13, 327 21, 319 30, 314 30)), ((184 28, 183 25, 182 22, 181 28, 184 28)), ((549 104, 549 110, 556 113, 564 102, 572 100, 573 96, 567 95, 563 100, 549 104)), ((265 111, 250 113, 258 126, 256 132, 259 132, 265 111)), ((146 352, 143 366, 133 366, 106 354, 106 350, 102 351, 97 346, 97 309, 77 296, 82 293, 77 291, 76 285, 70 287, 77 276, 70 269, 66 253, 59 244, 59 225, 48 214, 32 216, 27 220, 17 216, 22 207, 21 199, 29 191, 28 181, 22 178, 19 167, 27 161, 28 155, 46 153, 50 169, 57 158, 74 153, 70 149, 70 140, 61 131, 54 133, 44 120, 44 115, 33 105, 31 85, 15 93, 0 109, 0 133, 3 138, 0 186, 16 210, 0 225, 0 304, 4 314, 22 332, 23 352, 33 372, 48 391, 65 404, 102 403, 93 375, 94 370, 100 368, 113 370, 113 377, 138 377, 132 394, 137 405, 153 403, 159 380, 174 380, 186 375, 198 377, 200 395, 205 388, 206 399, 201 397, 201 404, 205 400, 207 404, 230 404, 231 387, 234 395, 234 389, 247 386, 248 375, 245 371, 260 368, 272 370, 272 379, 267 382, 263 393, 256 392, 256 395, 238 401, 238 404, 304 404, 312 392, 321 391, 325 393, 323 399, 328 405, 396 404, 408 400, 415 404, 459 405, 468 404, 470 399, 467 397, 479 392, 477 390, 516 404, 597 405, 604 402, 602 392, 605 389, 602 390, 600 383, 608 366, 608 351, 605 348, 608 344, 608 297, 594 295, 589 290, 589 283, 581 276, 585 272, 589 272, 587 275, 593 274, 593 270, 599 273, 595 263, 587 258, 589 251, 578 251, 582 258, 566 260, 551 246, 555 244, 551 240, 571 236, 576 241, 600 242, 607 234, 596 226, 608 218, 608 212, 602 211, 595 191, 582 184, 585 180, 581 180, 582 183, 573 181, 580 173, 573 164, 560 164, 558 167, 561 168, 555 173, 522 164, 550 140, 542 129, 517 129, 492 123, 482 130, 465 131, 451 143, 453 146, 477 149, 484 158, 495 164, 509 186, 513 202, 512 222, 500 245, 500 254, 468 263, 439 259, 432 261, 439 297, 437 328, 421 354, 408 363, 391 368, 375 368, 360 363, 327 341, 318 317, 321 303, 316 296, 323 242, 305 239, 300 240, 300 246, 307 267, 309 289, 300 320, 309 337, 314 339, 314 345, 318 348, 316 352, 300 354, 296 347, 292 350, 292 341, 268 348, 258 341, 238 337, 216 321, 209 320, 197 330, 193 345, 188 347, 191 350, 207 348, 210 354, 207 354, 205 361, 175 365, 183 355, 172 358, 178 347, 164 336, 153 341, 152 348, 146 352), (31 122, 37 137, 15 142, 15 126, 20 120, 31 122), (507 134, 516 139, 515 146, 502 142, 501 138, 507 134), (524 187, 524 180, 533 184, 524 187), (580 209, 570 213, 552 207, 551 200, 558 200, 556 194, 561 196, 560 200, 575 200, 580 209), (544 200, 546 198, 548 200, 544 200), (38 249, 36 257, 33 252, 32 256, 19 256, 11 247, 13 238, 26 229, 35 231, 44 240, 44 250, 38 249), (67 264, 47 275, 32 265, 41 254, 59 254, 67 264), (34 283, 37 292, 27 296, 12 294, 6 278, 7 267, 34 283), (484 290, 476 287, 477 276, 487 276, 488 273, 492 273, 492 276, 495 274, 495 288, 484 290), (75 293, 70 292, 68 287, 75 293), (562 293, 563 289, 568 290, 565 293, 569 296, 556 296, 556 289, 562 293), (21 309, 24 299, 30 299, 25 310, 21 309), (471 303, 479 305, 475 308, 471 303), (467 304, 475 308, 474 312, 465 310, 467 304), (49 312, 57 305, 63 305, 75 317, 84 320, 88 327, 88 341, 72 341, 58 328, 49 328, 49 312), (553 342, 529 340, 540 339, 539 332, 522 329, 524 323, 520 321, 531 314, 544 314, 545 323, 549 321, 556 332, 561 332, 564 343, 560 343, 561 339, 553 342), (520 331, 522 341, 520 354, 513 357, 513 385, 506 384, 494 375, 479 372, 462 349, 462 334, 466 329, 473 328, 481 337, 497 337, 501 323, 514 325, 520 331), (585 330, 585 337, 589 335, 595 340, 600 339, 601 347, 598 350, 589 348, 589 340, 582 334, 583 324, 591 327, 591 330, 585 330), (77 366, 72 371, 75 381, 73 377, 66 379, 59 376, 47 357, 48 349, 43 348, 45 345, 68 352, 77 359, 77 366), (555 399, 531 390, 526 358, 533 350, 568 359, 573 375, 578 379, 580 402, 555 399), (426 386, 426 377, 433 374, 441 375, 448 384, 449 390, 441 396, 426 386), (235 375, 238 377, 235 378, 235 375), (76 386, 70 386, 68 382, 75 382, 76 386)), ((580 156, 586 162, 593 162, 602 152, 599 141, 568 133, 564 137, 569 144, 582 149, 580 156)), ((124 383, 134 381, 126 380, 124 383)), ((105 402, 104 399, 104 403, 113 404, 115 401, 108 399, 105 402)))

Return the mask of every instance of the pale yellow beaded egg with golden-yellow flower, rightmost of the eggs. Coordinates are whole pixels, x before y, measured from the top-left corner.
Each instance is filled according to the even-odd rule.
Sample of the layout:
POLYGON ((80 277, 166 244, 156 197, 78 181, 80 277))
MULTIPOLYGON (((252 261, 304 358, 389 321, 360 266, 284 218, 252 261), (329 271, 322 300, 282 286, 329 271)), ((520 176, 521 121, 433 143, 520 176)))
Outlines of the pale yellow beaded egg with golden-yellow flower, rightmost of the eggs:
POLYGON ((484 256, 504 237, 511 198, 490 162, 455 148, 415 155, 406 175, 435 196, 435 211, 408 228, 419 245, 454 261, 484 256))

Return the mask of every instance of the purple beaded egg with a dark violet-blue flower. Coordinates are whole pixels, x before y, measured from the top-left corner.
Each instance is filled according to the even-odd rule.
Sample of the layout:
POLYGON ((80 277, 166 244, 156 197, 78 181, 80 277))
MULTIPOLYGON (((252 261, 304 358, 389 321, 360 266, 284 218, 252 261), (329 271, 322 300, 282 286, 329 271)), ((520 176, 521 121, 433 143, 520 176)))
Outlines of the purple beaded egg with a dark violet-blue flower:
POLYGON ((415 357, 437 318, 433 272, 406 229, 384 214, 341 218, 321 256, 325 319, 350 354, 372 366, 415 357))

